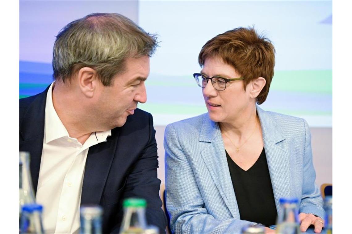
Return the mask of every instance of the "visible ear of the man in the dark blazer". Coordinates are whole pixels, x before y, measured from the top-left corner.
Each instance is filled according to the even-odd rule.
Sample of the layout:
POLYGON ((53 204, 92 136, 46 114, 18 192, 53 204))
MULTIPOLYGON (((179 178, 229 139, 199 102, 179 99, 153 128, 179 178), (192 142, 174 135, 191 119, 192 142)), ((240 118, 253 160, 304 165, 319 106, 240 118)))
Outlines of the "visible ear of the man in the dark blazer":
POLYGON ((96 90, 96 82, 98 82, 96 71, 90 67, 82 67, 77 75, 82 93, 88 98, 92 98, 96 90))

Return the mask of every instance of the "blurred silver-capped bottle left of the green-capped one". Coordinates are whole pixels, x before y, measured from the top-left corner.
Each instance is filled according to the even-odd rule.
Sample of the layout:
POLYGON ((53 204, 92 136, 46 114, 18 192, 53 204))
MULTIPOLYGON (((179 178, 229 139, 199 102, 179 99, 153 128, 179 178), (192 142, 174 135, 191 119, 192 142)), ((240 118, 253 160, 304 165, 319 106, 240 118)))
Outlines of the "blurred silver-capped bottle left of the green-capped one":
POLYGON ((85 205, 80 208, 81 232, 84 234, 102 233, 103 209, 98 205, 85 205))

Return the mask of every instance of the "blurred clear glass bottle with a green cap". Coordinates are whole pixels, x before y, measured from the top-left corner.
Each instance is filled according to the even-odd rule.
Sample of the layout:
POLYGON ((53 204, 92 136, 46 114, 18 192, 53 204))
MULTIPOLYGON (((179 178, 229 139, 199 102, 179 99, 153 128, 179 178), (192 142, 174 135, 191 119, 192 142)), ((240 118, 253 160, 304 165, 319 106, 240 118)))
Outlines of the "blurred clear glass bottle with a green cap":
POLYGON ((144 233, 147 222, 145 218, 145 199, 129 198, 124 200, 124 217, 120 233, 144 233))

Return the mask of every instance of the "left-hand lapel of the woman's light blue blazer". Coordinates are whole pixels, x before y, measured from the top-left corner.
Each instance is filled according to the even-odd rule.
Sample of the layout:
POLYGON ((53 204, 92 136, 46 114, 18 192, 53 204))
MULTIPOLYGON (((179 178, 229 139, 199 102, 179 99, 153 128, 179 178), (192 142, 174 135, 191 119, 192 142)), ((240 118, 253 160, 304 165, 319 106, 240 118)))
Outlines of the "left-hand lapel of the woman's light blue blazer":
POLYGON ((239 219, 237 200, 228 169, 221 131, 218 123, 210 120, 208 115, 205 115, 205 119, 203 120, 199 141, 209 142, 209 146, 201 151, 202 158, 233 218, 239 219))

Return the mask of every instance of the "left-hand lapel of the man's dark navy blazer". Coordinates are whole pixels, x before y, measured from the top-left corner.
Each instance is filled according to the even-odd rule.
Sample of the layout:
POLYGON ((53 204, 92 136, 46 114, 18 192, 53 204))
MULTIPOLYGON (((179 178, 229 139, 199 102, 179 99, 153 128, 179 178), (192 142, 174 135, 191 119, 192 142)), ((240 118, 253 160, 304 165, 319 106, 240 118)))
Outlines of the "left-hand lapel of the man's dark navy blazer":
POLYGON ((44 139, 44 118, 46 94, 50 85, 43 93, 37 95, 26 113, 20 118, 20 135, 23 141, 19 142, 20 151, 30 153, 30 168, 34 193, 37 192, 40 160, 42 159, 44 139))

